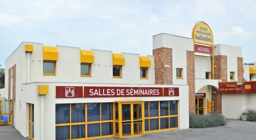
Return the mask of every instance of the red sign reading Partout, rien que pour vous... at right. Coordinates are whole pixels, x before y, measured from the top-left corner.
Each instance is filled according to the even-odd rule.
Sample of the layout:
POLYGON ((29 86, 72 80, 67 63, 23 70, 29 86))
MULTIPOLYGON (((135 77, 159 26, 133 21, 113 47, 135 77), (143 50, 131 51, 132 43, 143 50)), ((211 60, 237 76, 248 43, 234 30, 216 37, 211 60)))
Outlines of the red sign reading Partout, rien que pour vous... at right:
POLYGON ((219 82, 219 93, 256 93, 256 81, 219 82))

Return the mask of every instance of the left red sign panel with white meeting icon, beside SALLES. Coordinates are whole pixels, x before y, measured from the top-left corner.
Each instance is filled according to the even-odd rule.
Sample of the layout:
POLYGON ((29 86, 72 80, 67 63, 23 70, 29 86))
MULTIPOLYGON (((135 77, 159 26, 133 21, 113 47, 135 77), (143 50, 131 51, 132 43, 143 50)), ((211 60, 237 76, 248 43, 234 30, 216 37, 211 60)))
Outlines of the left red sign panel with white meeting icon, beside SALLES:
POLYGON ((56 98, 82 98, 83 87, 56 86, 56 98))

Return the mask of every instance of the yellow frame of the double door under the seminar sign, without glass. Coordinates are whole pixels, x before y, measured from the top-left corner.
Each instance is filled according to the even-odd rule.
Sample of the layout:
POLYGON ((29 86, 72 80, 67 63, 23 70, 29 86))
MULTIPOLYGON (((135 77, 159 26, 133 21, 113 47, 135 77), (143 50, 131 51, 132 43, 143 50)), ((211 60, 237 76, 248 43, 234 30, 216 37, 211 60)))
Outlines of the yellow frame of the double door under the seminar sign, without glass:
MULTIPOLYGON (((116 103, 118 103, 118 120, 116 120, 116 118, 114 118, 114 119, 115 119, 115 123, 118 122, 118 133, 119 134, 117 136, 115 135, 115 137, 117 137, 117 138, 128 138, 128 137, 135 137, 135 136, 144 136, 145 135, 145 129, 144 129, 144 102, 143 101, 130 101, 130 102, 116 101, 116 103), (141 123, 141 125, 142 125, 141 126, 142 134, 134 134, 134 132, 133 132, 134 123, 136 123, 136 121, 134 121, 134 118, 133 118, 133 105, 134 104, 141 104, 141 119, 138 119, 136 121, 141 121, 141 122, 138 122, 138 123, 141 123), (130 105, 131 106, 131 118, 130 118, 130 120, 123 121, 122 105, 130 105), (122 124, 122 122, 128 122, 127 124, 131 124, 131 135, 128 135, 128 136, 123 136, 122 135, 123 134, 123 124, 122 124)), ((116 129, 115 129, 115 132, 116 132, 116 129)))

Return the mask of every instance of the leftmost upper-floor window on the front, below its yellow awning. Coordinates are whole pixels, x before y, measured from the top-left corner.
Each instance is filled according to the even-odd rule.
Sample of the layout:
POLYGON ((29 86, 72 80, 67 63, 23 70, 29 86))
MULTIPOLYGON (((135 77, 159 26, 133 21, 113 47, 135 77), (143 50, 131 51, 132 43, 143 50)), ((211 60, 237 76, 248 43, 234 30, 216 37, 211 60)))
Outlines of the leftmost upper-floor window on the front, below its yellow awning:
POLYGON ((44 61, 44 75, 56 75, 56 61, 44 61))

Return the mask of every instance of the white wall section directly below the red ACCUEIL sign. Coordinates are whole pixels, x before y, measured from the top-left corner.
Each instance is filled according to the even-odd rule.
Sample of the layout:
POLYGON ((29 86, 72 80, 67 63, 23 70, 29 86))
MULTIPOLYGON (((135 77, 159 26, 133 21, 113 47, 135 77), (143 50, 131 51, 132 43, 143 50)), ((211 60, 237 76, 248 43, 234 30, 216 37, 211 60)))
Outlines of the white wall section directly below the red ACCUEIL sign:
POLYGON ((205 79, 205 72, 211 73, 211 57, 195 55, 195 78, 205 79))

